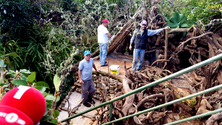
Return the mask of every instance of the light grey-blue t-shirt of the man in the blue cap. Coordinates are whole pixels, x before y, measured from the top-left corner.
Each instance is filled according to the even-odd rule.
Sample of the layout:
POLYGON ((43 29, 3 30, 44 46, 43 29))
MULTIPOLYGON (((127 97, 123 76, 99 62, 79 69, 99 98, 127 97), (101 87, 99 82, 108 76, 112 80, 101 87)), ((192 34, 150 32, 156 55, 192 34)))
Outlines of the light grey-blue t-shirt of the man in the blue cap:
POLYGON ((79 70, 81 70, 81 79, 82 80, 90 80, 92 79, 92 68, 94 61, 90 58, 89 62, 83 59, 79 63, 79 70))

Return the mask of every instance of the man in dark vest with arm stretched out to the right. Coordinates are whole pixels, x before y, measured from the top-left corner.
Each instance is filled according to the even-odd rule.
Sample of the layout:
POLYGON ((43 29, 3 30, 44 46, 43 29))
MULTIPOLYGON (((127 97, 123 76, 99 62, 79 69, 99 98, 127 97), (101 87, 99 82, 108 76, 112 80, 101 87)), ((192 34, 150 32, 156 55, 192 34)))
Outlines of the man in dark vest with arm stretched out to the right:
MULTIPOLYGON (((146 44, 148 43, 148 36, 155 35, 159 32, 162 32, 163 30, 170 29, 170 27, 161 28, 158 30, 148 30, 147 27, 147 21, 143 20, 141 22, 141 28, 136 29, 133 33, 133 36, 130 40, 130 46, 129 49, 132 50, 132 44, 135 42, 135 48, 133 50, 133 62, 132 62, 132 71, 135 72, 136 70, 140 70, 142 68, 143 64, 143 58, 145 55, 146 50, 146 44), (137 61, 139 58, 139 63, 137 65, 137 61)), ((152 62, 149 62, 152 64, 152 62)))

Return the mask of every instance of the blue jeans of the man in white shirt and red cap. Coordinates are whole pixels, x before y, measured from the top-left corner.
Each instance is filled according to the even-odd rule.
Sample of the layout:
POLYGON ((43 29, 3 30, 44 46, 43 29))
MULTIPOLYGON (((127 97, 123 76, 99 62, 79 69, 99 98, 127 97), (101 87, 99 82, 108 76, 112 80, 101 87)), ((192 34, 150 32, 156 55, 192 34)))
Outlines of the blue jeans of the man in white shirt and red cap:
POLYGON ((106 55, 107 55, 107 47, 108 43, 100 43, 99 50, 100 50, 100 65, 105 65, 106 55))

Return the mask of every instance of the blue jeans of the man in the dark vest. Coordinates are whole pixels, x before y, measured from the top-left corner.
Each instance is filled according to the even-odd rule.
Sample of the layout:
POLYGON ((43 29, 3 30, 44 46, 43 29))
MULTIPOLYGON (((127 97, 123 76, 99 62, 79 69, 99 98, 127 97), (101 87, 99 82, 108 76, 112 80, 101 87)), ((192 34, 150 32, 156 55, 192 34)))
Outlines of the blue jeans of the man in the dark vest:
POLYGON ((142 68, 144 55, 145 55, 145 49, 134 49, 133 50, 133 63, 132 63, 133 72, 135 72, 135 70, 140 70, 142 68), (138 58, 139 58, 139 63, 136 68, 138 58))

